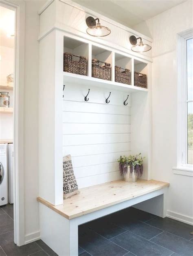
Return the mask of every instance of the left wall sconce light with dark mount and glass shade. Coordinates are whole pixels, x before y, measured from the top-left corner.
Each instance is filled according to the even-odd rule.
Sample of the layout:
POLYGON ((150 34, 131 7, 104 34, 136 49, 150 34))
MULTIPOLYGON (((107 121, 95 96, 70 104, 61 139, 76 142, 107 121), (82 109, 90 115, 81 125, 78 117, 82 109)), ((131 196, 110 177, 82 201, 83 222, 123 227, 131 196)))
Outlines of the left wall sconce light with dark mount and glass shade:
POLYGON ((106 26, 101 26, 101 23, 99 22, 99 18, 94 19, 93 17, 89 16, 86 18, 86 24, 88 26, 88 29, 86 32, 89 35, 92 36, 106 36, 111 33, 110 29, 106 26), (97 20, 97 23, 96 23, 97 20))

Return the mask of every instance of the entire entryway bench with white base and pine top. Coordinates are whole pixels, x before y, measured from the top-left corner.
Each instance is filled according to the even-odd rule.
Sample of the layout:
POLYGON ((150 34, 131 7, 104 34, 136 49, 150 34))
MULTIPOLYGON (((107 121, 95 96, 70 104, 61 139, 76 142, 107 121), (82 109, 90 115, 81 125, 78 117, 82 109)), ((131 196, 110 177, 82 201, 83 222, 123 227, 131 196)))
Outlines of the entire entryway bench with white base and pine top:
POLYGON ((165 217, 164 195, 168 186, 169 183, 154 180, 112 181, 82 188, 79 194, 57 206, 38 197, 41 239, 59 256, 77 256, 79 225, 160 195, 159 215, 165 217))

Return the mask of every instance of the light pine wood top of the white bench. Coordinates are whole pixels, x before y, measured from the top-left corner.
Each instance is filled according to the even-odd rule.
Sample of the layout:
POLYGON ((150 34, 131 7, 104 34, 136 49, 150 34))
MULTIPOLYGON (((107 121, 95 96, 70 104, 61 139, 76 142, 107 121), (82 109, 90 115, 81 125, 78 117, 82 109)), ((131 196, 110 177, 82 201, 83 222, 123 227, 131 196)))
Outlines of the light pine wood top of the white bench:
POLYGON ((65 199, 61 205, 52 205, 40 197, 37 201, 65 218, 72 219, 168 186, 167 182, 155 180, 140 179, 134 183, 118 180, 81 188, 79 194, 65 199))

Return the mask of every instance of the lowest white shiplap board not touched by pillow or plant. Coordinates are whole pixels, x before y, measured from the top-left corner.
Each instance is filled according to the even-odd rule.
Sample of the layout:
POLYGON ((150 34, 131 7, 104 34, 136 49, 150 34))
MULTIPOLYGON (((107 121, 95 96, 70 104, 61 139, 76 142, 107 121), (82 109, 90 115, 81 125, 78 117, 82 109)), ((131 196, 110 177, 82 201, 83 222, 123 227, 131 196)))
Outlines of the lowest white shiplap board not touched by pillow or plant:
POLYGON ((130 133, 63 135, 63 146, 130 142, 130 133))

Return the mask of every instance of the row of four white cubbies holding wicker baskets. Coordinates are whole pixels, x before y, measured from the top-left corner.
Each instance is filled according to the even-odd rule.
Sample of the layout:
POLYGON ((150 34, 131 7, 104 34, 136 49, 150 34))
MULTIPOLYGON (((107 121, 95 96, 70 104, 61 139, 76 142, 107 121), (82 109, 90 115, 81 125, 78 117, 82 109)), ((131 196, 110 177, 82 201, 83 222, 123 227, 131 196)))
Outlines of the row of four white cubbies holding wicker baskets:
POLYGON ((64 84, 147 92, 147 66, 109 47, 64 37, 64 84))

